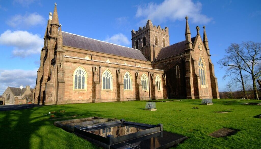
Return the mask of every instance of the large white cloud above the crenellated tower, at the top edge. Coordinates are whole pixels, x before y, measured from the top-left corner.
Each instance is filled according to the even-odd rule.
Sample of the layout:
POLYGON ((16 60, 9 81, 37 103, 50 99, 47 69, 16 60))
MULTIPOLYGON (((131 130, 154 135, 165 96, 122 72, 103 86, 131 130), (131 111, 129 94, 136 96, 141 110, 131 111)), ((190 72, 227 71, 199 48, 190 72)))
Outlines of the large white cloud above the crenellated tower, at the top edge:
POLYGON ((185 20, 187 15, 193 23, 208 23, 212 18, 201 14, 202 4, 200 2, 193 3, 192 0, 165 0, 160 4, 148 3, 139 6, 136 17, 144 18, 143 23, 147 20, 161 23, 167 20, 185 20))

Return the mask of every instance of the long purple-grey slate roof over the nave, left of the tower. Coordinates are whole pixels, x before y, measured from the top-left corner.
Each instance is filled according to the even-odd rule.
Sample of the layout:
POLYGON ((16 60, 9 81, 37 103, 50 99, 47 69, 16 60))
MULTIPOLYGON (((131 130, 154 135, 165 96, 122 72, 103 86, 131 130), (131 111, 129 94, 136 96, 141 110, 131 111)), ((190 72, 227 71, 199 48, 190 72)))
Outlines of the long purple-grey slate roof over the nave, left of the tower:
POLYGON ((62 32, 63 45, 147 61, 140 50, 62 32))

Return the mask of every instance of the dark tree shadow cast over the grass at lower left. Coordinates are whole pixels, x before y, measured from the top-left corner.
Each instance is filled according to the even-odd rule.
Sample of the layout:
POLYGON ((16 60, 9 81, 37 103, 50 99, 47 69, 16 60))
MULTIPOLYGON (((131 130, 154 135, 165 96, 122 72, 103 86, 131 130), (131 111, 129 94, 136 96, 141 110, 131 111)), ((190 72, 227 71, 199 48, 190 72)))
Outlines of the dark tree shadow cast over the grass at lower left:
MULTIPOLYGON (((1 141, 1 148, 59 148, 59 143, 57 143, 59 140, 66 143, 66 148, 78 148, 79 145, 76 145, 71 139, 74 135, 61 133, 62 130, 53 125, 53 122, 57 120, 50 120, 50 115, 41 115, 41 112, 48 113, 63 109, 68 109, 68 107, 41 106, 25 110, 0 112, 0 140, 3 140, 1 141), (54 138, 57 140, 54 140, 54 138)), ((72 112, 65 115, 100 116, 95 113, 96 111, 76 113, 74 109, 75 111, 79 110, 70 107, 69 111, 72 112)), ((74 140, 79 139, 74 138, 74 140)), ((88 145, 91 148, 98 148, 98 146, 90 143, 88 145)))

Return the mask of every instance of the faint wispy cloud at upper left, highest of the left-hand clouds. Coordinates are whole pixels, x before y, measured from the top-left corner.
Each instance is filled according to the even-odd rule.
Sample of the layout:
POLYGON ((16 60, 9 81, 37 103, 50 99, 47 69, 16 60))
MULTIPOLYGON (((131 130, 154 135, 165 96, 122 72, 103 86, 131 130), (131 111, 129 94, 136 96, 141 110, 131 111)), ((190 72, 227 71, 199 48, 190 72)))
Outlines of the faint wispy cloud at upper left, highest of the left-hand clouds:
POLYGON ((20 15, 17 14, 11 19, 7 20, 6 23, 11 26, 11 27, 31 27, 35 25, 44 25, 44 17, 37 14, 37 13, 32 13, 32 14, 25 14, 25 15, 20 15))

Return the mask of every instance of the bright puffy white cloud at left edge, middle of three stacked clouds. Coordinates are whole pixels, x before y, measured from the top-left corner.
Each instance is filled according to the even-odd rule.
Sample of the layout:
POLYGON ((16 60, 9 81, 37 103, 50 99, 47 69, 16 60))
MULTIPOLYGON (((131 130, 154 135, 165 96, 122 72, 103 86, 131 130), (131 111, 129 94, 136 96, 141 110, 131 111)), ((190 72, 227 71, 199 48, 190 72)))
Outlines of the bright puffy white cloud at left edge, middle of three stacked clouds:
POLYGON ((0 45, 13 46, 13 56, 17 57, 40 53, 43 43, 43 38, 27 31, 7 30, 0 35, 0 45))

